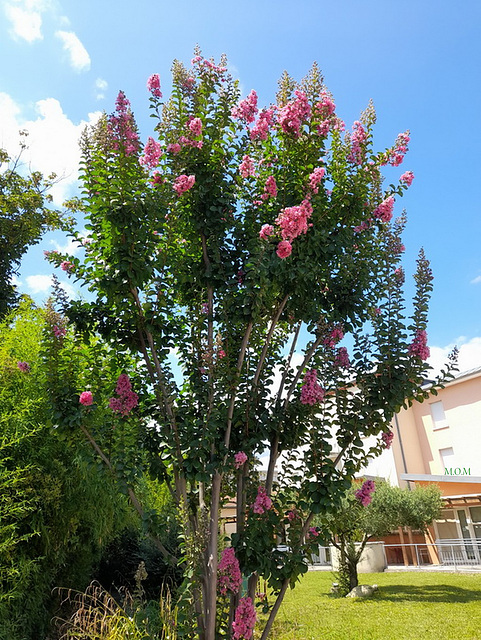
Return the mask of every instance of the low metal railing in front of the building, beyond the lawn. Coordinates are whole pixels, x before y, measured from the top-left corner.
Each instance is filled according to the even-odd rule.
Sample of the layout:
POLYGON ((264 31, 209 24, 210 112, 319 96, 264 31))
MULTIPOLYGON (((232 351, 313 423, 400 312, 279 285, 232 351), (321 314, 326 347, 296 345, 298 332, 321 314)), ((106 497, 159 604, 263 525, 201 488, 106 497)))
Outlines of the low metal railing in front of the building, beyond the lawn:
MULTIPOLYGON (((455 571, 481 570, 481 539, 436 540, 435 543, 385 544, 388 565, 411 566, 448 566, 455 571)), ((329 547, 319 546, 317 554, 312 556, 312 564, 332 566, 332 553, 329 547)))

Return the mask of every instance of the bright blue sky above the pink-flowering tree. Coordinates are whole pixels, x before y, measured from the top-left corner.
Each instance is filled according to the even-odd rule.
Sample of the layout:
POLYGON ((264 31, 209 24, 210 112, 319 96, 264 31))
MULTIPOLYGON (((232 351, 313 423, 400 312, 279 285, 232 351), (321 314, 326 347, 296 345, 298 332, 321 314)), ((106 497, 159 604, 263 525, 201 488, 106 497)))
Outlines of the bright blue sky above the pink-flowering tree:
MULTIPOLYGON (((25 160, 64 176, 60 203, 78 187, 85 124, 111 112, 122 89, 145 140, 147 78, 159 73, 167 94, 172 60, 188 63, 196 43, 206 57, 226 53, 244 94, 256 89, 261 104, 274 101, 284 69, 301 79, 317 61, 348 127, 372 99, 378 147, 410 129, 406 271, 423 246, 435 276, 432 353, 457 343, 461 367, 478 366, 480 25, 479 0, 0 0, 0 145, 15 154, 18 129, 28 129, 25 160)), ((39 302, 51 274, 43 249, 56 243, 65 240, 48 236, 22 265, 19 286, 39 302)))

